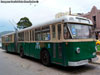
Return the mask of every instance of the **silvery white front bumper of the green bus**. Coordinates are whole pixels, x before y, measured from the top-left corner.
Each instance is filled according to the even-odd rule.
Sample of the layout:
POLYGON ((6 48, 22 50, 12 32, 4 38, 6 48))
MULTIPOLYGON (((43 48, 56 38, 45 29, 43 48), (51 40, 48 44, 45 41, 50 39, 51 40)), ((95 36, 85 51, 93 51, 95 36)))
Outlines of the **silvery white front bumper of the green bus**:
POLYGON ((81 60, 81 61, 77 61, 77 62, 68 62, 68 66, 81 66, 81 65, 85 65, 85 64, 88 64, 89 62, 92 63, 92 62, 95 62, 97 61, 98 58, 95 57, 95 58, 91 58, 90 60, 81 60))

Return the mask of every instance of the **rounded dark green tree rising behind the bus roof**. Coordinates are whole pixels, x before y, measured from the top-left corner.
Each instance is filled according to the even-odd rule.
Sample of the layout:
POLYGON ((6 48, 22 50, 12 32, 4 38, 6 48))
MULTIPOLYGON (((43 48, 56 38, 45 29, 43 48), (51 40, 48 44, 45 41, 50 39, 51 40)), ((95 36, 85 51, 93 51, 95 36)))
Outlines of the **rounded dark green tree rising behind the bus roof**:
POLYGON ((21 18, 20 21, 17 23, 17 27, 19 29, 24 29, 30 26, 32 26, 32 23, 29 21, 27 17, 21 18))

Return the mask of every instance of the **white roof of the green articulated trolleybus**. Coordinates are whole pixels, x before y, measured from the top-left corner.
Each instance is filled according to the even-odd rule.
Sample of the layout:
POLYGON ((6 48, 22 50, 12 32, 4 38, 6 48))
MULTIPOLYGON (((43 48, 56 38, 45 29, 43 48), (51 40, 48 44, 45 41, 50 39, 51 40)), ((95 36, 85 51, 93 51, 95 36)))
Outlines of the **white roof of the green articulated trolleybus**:
MULTIPOLYGON (((54 19, 54 20, 51 20, 51 21, 48 21, 48 22, 45 22, 45 23, 42 23, 42 24, 38 24, 38 25, 31 26, 31 27, 28 27, 28 28, 25 28, 25 29, 21 29, 18 32, 23 32, 23 31, 26 31, 26 30, 30 30, 32 28, 45 26, 45 25, 49 25, 49 24, 54 24, 54 23, 57 23, 57 22, 63 22, 63 21, 64 22, 71 22, 71 23, 81 23, 81 24, 83 23, 83 24, 93 25, 92 21, 90 19, 85 18, 85 17, 66 15, 66 16, 63 16, 61 18, 57 18, 57 19, 54 19)), ((14 34, 14 33, 15 32, 5 34, 5 35, 11 35, 11 34, 14 34)), ((5 35, 3 35, 3 36, 5 36, 5 35)))

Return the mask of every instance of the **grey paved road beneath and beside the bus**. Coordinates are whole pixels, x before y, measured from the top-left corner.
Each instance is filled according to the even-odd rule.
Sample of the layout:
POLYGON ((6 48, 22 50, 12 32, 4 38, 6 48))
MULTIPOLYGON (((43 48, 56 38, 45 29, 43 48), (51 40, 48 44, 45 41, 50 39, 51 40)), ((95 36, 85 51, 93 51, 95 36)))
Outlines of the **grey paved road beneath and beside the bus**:
POLYGON ((0 75, 100 75, 100 65, 45 67, 38 60, 28 57, 22 59, 16 54, 0 49, 0 75))

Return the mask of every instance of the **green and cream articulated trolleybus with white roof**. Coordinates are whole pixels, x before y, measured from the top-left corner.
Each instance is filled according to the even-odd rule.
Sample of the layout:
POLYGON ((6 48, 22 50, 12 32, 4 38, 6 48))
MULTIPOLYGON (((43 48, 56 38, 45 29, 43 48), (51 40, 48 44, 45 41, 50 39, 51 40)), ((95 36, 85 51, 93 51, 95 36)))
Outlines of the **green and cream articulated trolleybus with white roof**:
POLYGON ((2 36, 2 48, 48 66, 81 66, 97 60, 91 20, 65 16, 2 36))

